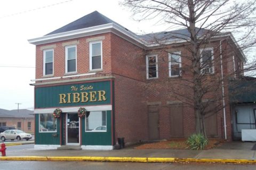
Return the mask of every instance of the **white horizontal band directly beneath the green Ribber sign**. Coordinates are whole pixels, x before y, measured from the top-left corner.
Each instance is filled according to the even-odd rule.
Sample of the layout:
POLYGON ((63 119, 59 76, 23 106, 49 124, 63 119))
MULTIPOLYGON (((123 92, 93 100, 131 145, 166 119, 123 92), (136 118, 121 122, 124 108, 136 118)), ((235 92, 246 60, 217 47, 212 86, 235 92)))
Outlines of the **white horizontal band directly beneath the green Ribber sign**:
MULTIPOLYGON (((83 104, 83 103, 81 103, 83 104)), ((81 106, 78 107, 58 107, 61 109, 62 112, 77 112, 78 109, 81 106)), ((112 110, 112 105, 100 105, 100 106, 83 106, 86 111, 106 111, 106 110, 112 110)), ((34 114, 49 114, 53 113, 55 108, 45 108, 45 109, 35 109, 34 114)))

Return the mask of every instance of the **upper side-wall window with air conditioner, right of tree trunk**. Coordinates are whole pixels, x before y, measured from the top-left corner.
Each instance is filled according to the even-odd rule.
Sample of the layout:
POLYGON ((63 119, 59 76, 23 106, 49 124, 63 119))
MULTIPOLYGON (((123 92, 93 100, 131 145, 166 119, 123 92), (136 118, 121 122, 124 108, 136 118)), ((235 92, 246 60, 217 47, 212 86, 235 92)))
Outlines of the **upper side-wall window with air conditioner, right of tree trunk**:
POLYGON ((213 66, 213 48, 203 48, 200 50, 201 54, 201 71, 202 73, 214 73, 213 66))

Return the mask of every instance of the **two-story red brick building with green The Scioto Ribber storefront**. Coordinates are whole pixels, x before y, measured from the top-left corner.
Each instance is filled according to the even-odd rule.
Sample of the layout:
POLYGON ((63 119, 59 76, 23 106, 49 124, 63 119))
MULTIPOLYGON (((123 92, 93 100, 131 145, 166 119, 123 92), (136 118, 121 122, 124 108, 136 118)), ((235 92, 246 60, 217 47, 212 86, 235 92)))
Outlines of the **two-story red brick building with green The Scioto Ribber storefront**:
MULTIPOLYGON (((178 35, 188 35, 188 31, 136 35, 94 11, 43 37, 29 39, 36 45, 35 148, 113 149, 118 137, 125 137, 128 144, 195 132, 193 107, 173 93, 191 93, 186 87, 191 74, 182 69, 191 64, 183 57, 189 52, 178 35), (61 114, 54 119, 57 108, 61 114), (79 118, 81 108, 87 112, 79 118)), ((225 34, 202 47, 201 55, 211 56, 203 69, 206 76, 243 67, 243 53, 230 54, 237 48, 228 43, 232 38, 225 34), (221 53, 221 61, 216 57, 220 45, 230 51, 221 53)), ((223 92, 227 95, 226 86, 223 92)), ((221 88, 209 99, 213 95, 222 96, 221 88)), ((225 109, 205 121, 209 136, 230 140, 231 112, 226 100, 225 109)))

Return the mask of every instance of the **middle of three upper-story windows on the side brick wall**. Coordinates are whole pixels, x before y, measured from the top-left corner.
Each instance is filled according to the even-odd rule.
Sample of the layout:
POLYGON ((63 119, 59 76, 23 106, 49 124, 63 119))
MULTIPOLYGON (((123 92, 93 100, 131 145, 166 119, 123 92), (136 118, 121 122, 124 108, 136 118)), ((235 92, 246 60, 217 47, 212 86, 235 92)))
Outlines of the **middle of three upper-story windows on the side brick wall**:
POLYGON ((169 53, 169 76, 181 75, 181 57, 180 51, 169 53))

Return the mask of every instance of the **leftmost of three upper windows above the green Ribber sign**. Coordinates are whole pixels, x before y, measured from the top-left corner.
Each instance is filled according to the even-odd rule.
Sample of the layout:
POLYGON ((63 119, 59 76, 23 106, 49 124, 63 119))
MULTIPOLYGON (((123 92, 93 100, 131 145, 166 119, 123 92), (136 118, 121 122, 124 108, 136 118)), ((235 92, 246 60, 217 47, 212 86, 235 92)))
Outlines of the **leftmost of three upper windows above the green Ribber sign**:
POLYGON ((46 75, 53 75, 53 49, 44 50, 44 68, 43 74, 46 75))

